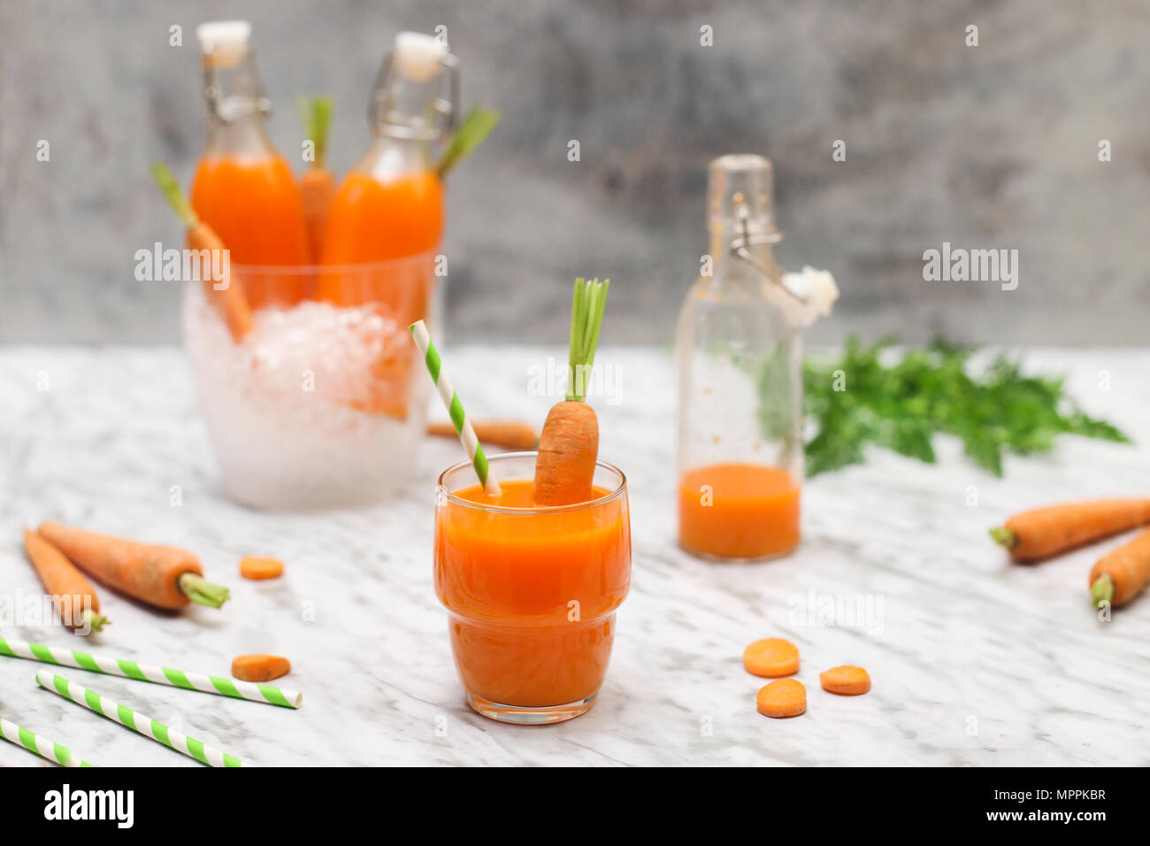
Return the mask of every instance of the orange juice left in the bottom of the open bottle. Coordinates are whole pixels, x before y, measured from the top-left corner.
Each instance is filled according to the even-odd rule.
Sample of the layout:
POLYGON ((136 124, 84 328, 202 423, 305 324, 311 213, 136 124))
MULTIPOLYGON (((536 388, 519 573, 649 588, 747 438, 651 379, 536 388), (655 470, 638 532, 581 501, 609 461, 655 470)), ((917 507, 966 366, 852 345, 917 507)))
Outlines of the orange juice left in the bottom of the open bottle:
POLYGON ((762 464, 712 464, 678 482, 678 542, 713 558, 784 555, 798 546, 799 486, 762 464))

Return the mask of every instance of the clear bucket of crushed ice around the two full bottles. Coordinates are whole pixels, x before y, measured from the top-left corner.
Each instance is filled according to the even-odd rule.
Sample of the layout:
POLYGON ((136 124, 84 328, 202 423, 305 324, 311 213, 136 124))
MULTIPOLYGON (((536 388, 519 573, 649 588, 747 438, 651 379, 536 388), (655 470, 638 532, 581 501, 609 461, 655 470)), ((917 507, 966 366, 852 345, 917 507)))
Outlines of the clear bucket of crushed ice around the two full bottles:
POLYGON ((239 343, 205 283, 184 283, 184 345, 231 498, 269 510, 354 506, 408 481, 430 380, 407 326, 438 313, 435 269, 435 253, 345 267, 232 265, 232 283, 254 306, 239 343), (283 302, 317 288, 338 305, 283 302))

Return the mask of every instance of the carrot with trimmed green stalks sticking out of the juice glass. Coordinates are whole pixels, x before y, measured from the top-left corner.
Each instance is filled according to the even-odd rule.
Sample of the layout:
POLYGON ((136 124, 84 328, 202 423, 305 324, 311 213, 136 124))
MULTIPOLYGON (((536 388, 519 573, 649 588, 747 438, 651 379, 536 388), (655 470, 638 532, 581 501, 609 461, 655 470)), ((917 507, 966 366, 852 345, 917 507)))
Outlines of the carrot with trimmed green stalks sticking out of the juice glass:
POLYGON ((599 458, 599 420, 583 399, 610 285, 611 280, 575 280, 567 401, 551 409, 539 436, 534 490, 537 505, 570 505, 591 498, 599 458))

